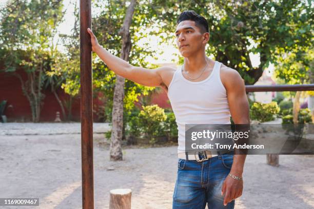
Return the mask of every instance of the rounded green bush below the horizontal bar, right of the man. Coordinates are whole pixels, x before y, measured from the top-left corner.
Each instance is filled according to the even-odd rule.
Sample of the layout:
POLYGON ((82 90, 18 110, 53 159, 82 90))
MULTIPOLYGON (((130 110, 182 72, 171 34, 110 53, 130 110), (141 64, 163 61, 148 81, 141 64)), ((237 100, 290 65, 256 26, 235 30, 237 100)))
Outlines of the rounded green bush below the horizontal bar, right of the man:
POLYGON ((280 108, 276 101, 270 103, 254 102, 250 108, 250 118, 260 122, 267 122, 274 120, 279 113, 280 108))

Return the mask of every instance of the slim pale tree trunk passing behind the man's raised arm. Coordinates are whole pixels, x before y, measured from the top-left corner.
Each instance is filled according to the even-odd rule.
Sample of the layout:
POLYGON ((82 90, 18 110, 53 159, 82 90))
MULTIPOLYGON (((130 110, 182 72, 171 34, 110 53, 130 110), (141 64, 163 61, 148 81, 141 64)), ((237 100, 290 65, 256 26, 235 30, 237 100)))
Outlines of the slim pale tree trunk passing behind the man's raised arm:
MULTIPOLYGON (((134 13, 136 0, 132 0, 127 9, 124 18, 123 26, 119 31, 122 35, 122 50, 120 58, 128 61, 131 50, 130 25, 134 13)), ((125 78, 116 75, 115 87, 113 93, 113 108, 112 108, 112 131, 110 142, 110 160, 122 160, 122 129, 123 129, 123 98, 124 98, 124 81, 125 78)))

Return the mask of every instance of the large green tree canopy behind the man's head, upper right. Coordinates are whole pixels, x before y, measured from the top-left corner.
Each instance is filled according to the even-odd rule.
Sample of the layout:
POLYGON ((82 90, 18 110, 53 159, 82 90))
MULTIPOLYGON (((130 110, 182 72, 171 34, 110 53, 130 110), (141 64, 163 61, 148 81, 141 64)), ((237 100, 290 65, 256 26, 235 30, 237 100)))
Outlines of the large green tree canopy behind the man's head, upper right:
MULTIPOLYGON (((141 7, 145 7, 143 4, 141 7)), ((147 6, 146 6, 147 7, 147 6)), ((161 1, 155 0, 146 10, 162 20, 162 31, 173 32, 176 18, 193 9, 208 20, 210 30, 207 54, 237 70, 246 84, 255 83, 269 63, 296 46, 312 46, 310 3, 288 1, 161 1), (260 54, 260 65, 253 67, 249 54, 260 54)), ((145 10, 144 10, 145 11, 145 10)), ((175 41, 174 37, 165 39, 175 41)), ((163 39, 164 40, 164 39, 163 39)), ((182 57, 180 56, 180 64, 182 57)))

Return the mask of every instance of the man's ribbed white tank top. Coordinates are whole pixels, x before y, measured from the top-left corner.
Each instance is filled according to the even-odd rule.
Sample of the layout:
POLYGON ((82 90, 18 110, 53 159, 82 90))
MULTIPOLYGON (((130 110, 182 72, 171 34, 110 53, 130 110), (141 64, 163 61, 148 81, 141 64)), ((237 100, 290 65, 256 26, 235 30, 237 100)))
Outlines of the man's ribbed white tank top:
POLYGON ((168 87, 175 122, 178 125, 178 153, 185 152, 185 124, 230 124, 226 89, 220 79, 222 63, 215 61, 210 75, 202 81, 190 81, 182 66, 174 72, 168 87))

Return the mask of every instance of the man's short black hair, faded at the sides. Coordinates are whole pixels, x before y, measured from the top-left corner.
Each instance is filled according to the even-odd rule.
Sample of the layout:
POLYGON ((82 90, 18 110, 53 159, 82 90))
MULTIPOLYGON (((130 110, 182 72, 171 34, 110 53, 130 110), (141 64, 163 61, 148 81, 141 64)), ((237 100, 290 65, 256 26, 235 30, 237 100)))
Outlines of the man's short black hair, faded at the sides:
POLYGON ((183 11, 179 15, 178 19, 176 20, 176 25, 179 25, 179 23, 181 23, 184 20, 194 21, 195 26, 199 27, 202 33, 206 33, 206 32, 209 33, 207 20, 205 19, 205 17, 203 17, 202 15, 199 15, 195 11, 193 10, 183 11))

